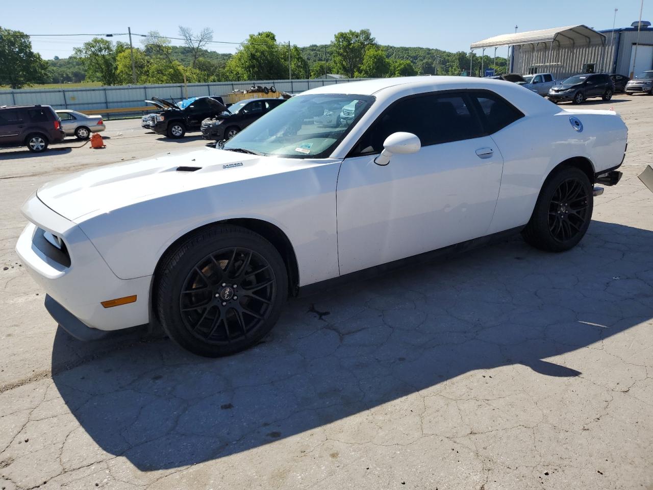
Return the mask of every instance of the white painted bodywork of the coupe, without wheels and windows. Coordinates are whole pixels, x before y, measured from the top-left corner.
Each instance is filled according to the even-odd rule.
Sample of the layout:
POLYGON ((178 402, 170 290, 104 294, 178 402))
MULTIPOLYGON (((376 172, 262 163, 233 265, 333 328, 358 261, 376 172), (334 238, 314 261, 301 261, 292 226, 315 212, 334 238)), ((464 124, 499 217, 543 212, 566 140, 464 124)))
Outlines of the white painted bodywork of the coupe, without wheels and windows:
POLYGON ((86 325, 131 327, 148 321, 159 259, 178 238, 202 225, 242 218, 274 225, 295 252, 298 286, 307 286, 525 225, 556 165, 584 157, 597 174, 613 169, 622 161, 627 139, 626 126, 612 111, 562 110, 502 80, 385 78, 306 93, 374 95, 375 101, 327 159, 204 148, 46 184, 23 208, 31 224, 16 248, 27 269, 86 325), (494 91, 524 118, 485 137, 393 155, 385 167, 375 165, 375 155, 347 158, 394 101, 466 89, 494 91), (583 131, 573 129, 572 116, 581 120, 583 131), (479 148, 492 148, 491 157, 479 157, 479 148), (180 172, 180 166, 200 170, 180 172), (35 248, 37 227, 63 239, 70 267, 35 248), (99 304, 134 294, 138 301, 132 304, 99 304))

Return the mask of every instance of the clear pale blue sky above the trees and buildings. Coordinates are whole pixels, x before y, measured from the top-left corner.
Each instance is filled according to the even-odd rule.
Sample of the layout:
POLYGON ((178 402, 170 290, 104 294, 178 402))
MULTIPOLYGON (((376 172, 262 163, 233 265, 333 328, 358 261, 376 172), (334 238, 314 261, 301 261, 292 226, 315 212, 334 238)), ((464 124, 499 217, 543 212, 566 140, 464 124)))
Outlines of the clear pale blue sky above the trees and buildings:
MULTIPOLYGON (((614 8, 618 8, 616 27, 627 27, 639 19, 640 7, 640 0, 196 0, 181 4, 178 0, 110 0, 87 2, 82 8, 52 0, 1 2, 0 26, 30 35, 126 33, 129 26, 133 33, 156 30, 161 35, 178 37, 179 25, 184 25, 195 31, 211 27, 214 41, 237 43, 250 33, 272 31, 280 42, 308 46, 328 43, 338 31, 366 28, 379 44, 447 51, 468 51, 472 42, 515 32, 515 25, 521 32, 573 24, 610 29, 614 8)), ((645 0, 642 19, 653 20, 653 0, 645 0)), ((74 46, 92 37, 31 39, 33 50, 52 59, 70 56, 74 46)), ((127 36, 111 39, 128 41, 127 36)), ((141 45, 140 39, 133 38, 136 46, 141 45)), ((208 46, 223 53, 235 52, 236 48, 234 44, 217 42, 208 46)), ((505 49, 499 48, 498 56, 505 56, 505 49)))

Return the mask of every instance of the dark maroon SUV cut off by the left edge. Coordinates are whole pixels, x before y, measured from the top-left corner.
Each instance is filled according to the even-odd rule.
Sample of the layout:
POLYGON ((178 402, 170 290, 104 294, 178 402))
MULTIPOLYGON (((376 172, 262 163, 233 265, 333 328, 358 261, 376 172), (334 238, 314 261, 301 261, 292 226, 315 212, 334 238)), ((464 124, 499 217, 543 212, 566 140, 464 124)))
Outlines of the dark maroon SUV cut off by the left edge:
POLYGON ((40 153, 64 137, 61 120, 49 105, 0 106, 0 146, 27 146, 40 153))

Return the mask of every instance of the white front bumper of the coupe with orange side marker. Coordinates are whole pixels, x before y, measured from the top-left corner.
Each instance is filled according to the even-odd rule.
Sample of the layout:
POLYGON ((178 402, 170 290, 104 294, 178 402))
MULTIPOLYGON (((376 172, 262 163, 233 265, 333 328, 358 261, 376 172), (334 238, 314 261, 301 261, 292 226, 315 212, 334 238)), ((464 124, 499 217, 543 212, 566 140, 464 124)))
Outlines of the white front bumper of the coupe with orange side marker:
POLYGON ((53 314, 54 310, 48 308, 57 323, 66 330, 75 330, 79 322, 100 331, 148 323, 151 276, 119 279, 82 229, 48 208, 36 195, 27 199, 22 211, 30 222, 18 238, 16 252, 39 287, 69 314, 62 314, 59 308, 53 314), (44 243, 44 231, 63 240, 63 256, 44 243), (101 304, 129 295, 136 295, 136 302, 112 308, 101 304))

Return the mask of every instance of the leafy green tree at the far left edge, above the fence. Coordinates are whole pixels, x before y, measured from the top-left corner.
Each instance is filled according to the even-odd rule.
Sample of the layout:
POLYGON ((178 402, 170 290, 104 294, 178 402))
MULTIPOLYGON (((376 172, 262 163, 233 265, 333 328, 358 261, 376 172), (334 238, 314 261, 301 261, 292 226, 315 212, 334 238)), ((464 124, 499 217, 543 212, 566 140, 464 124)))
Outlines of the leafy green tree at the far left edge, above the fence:
POLYGON ((29 36, 0 27, 0 85, 22 88, 42 83, 48 76, 48 63, 32 51, 29 36))

